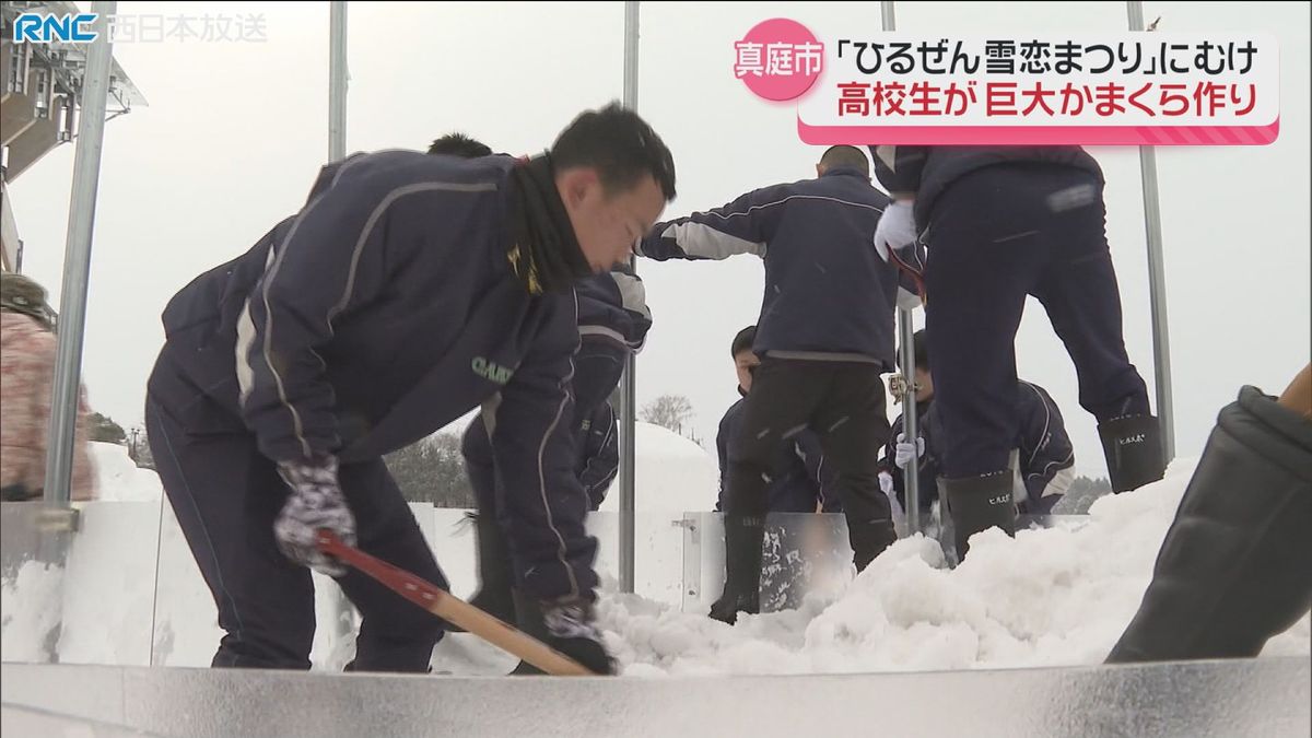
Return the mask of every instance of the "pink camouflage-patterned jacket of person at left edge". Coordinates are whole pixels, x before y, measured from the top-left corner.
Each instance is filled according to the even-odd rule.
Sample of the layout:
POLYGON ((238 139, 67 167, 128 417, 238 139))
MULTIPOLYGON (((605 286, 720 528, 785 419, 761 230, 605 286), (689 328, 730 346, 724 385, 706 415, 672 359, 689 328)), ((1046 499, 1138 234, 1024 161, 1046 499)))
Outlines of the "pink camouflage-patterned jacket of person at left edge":
MULTIPOLYGON (((45 306, 45 290, 20 274, 4 274, 0 301, 0 495, 7 502, 37 499, 46 486, 46 441, 56 339, 45 306)), ((96 496, 87 441, 87 408, 80 399, 73 433, 70 498, 96 496)))

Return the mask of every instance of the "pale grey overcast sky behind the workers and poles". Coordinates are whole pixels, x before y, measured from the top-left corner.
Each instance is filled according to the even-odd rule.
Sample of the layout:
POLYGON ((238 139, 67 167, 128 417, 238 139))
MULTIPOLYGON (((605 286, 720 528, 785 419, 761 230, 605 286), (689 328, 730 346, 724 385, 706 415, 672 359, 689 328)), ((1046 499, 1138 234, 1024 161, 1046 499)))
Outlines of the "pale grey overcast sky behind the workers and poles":
MULTIPOLYGON (((83 4, 87 7, 87 4, 83 4)), ((1308 5, 1145 3, 1160 30, 1262 30, 1281 43, 1282 130, 1267 147, 1158 150, 1178 450, 1197 456, 1244 383, 1278 394, 1309 357, 1308 5)), ((327 3, 119 3, 119 14, 262 13, 266 43, 121 43, 114 55, 150 100, 108 125, 96 213, 84 377, 92 406, 139 424, 163 343, 159 314, 194 276, 251 247, 295 211, 327 159, 327 3)), ((880 29, 878 3, 643 4, 639 112, 674 154, 665 217, 813 175, 791 108, 733 79, 733 41, 791 17, 821 39, 880 29)), ((1123 3, 899 3, 900 30, 943 33, 1126 28, 1123 3)), ((348 151, 421 148, 451 130, 533 152, 585 108, 619 98, 623 4, 352 4, 348 151)), ((1139 156, 1090 148, 1107 176, 1109 239, 1131 360, 1153 385, 1139 156)), ((58 305, 73 147, 13 185, 25 271, 58 305)), ((643 260, 655 327, 638 397, 687 395, 714 443, 735 399, 728 343, 756 320, 762 269, 643 260)), ((917 314, 917 326, 924 315, 917 314)), ((1077 465, 1105 474, 1075 370, 1030 301, 1021 376, 1061 406, 1077 465)))

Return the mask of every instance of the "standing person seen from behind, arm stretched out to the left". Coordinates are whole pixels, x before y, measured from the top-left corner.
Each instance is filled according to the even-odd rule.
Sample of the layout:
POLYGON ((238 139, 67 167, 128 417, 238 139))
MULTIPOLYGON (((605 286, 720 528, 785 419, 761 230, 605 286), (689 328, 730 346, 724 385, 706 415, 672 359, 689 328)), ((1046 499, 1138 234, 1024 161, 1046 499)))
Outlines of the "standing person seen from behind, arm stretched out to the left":
POLYGON ((875 454, 888 436, 879 373, 893 365, 893 307, 907 282, 875 248, 887 198, 869 172, 861 150, 832 146, 816 179, 656 223, 638 244, 640 255, 657 260, 733 253, 765 260, 752 344, 761 366, 728 449, 726 583, 711 607, 711 617, 724 622, 760 607, 766 486, 781 441, 796 431, 810 428, 820 439, 857 570, 896 538, 875 454))

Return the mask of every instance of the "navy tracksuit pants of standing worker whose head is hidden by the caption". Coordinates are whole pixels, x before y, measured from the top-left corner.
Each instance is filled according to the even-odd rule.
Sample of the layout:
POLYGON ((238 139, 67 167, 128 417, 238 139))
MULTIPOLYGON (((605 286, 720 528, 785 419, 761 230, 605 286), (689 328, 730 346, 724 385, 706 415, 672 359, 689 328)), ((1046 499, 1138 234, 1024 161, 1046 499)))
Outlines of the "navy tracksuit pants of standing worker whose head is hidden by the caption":
POLYGON ((1047 310, 1098 422, 1147 415, 1126 355, 1102 185, 1051 164, 984 167, 934 202, 925 232, 925 337, 947 478, 1006 467, 1017 436, 1015 331, 1026 295, 1047 310))

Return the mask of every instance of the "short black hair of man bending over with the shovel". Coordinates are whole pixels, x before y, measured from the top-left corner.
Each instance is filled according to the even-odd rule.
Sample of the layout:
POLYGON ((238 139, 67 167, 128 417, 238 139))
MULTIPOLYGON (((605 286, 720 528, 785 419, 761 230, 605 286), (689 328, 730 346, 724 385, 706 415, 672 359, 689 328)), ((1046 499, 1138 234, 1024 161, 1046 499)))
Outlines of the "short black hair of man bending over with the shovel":
POLYGON ((665 200, 674 200, 673 155, 647 121, 619 102, 575 118, 551 144, 551 160, 558 169, 596 168, 606 194, 627 190, 651 175, 665 200))

